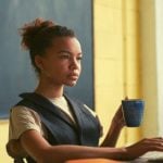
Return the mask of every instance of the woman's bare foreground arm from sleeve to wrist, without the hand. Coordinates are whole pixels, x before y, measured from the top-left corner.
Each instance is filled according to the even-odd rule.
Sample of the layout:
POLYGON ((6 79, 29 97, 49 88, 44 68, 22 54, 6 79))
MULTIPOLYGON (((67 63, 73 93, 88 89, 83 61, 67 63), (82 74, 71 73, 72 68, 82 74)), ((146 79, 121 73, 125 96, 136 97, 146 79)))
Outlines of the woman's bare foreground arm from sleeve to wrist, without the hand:
POLYGON ((105 158, 122 160, 124 148, 99 148, 61 145, 51 146, 36 130, 25 131, 21 136, 21 143, 25 151, 38 163, 63 163, 73 159, 105 158))

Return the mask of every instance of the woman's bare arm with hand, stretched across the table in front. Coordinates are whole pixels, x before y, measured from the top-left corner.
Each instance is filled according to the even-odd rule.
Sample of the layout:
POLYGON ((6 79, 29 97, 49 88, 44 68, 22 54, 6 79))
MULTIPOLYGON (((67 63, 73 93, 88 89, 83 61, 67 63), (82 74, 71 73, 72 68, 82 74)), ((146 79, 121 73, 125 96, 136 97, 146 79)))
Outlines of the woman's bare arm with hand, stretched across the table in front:
POLYGON ((64 163, 66 160, 95 158, 133 160, 148 151, 163 151, 162 138, 143 139, 127 148, 51 146, 36 130, 25 131, 21 136, 21 143, 37 163, 64 163))

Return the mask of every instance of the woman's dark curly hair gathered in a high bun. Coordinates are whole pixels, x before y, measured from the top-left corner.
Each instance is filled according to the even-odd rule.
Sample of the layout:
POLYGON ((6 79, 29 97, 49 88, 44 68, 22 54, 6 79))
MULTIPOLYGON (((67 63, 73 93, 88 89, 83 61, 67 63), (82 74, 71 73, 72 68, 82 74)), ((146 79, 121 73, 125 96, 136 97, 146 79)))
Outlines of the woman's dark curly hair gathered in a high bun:
POLYGON ((29 50, 32 64, 37 73, 40 73, 40 70, 35 63, 36 55, 43 55, 46 49, 52 46, 52 41, 57 37, 75 37, 72 29, 42 18, 36 18, 34 22, 25 24, 20 28, 20 34, 22 47, 29 50))

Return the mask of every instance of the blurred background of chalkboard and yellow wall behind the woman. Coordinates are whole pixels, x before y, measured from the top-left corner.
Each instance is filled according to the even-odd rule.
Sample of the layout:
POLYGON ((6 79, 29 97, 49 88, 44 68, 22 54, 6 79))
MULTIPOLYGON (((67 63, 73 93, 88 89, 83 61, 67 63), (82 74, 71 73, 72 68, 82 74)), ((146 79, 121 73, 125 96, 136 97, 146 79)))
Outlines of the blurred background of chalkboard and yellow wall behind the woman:
POLYGON ((66 91, 98 113, 104 136, 126 96, 146 101, 143 122, 141 127, 125 127, 117 147, 163 136, 162 8, 162 0, 1 0, 0 162, 12 163, 5 152, 10 108, 37 83, 17 32, 36 17, 76 32, 83 74, 66 91))

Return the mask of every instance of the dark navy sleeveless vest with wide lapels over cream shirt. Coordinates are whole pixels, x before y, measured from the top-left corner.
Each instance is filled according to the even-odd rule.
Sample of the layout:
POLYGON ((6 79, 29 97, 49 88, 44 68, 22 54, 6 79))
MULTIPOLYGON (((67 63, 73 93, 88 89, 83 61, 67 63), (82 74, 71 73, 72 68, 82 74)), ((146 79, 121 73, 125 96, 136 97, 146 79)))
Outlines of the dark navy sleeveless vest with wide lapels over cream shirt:
MULTIPOLYGON (((97 147, 100 138, 100 123, 84 104, 65 96, 76 124, 45 97, 38 93, 23 93, 16 105, 36 111, 48 130, 51 145, 80 145, 97 147)), ((28 163, 32 163, 28 162, 28 163)))

